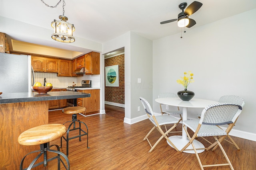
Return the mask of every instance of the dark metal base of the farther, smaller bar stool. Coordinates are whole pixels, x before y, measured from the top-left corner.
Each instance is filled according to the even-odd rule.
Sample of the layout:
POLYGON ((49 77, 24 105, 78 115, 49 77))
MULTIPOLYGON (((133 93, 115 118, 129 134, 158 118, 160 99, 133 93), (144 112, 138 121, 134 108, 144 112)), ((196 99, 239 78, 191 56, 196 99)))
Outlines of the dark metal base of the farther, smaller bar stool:
MULTIPOLYGON (((69 140, 75 139, 75 138, 79 137, 79 141, 81 141, 81 137, 84 136, 84 135, 87 135, 87 148, 89 149, 90 147, 88 147, 88 127, 87 127, 87 125, 84 122, 82 122, 80 120, 77 120, 77 115, 76 114, 72 115, 72 121, 67 121, 65 123, 68 123, 68 122, 72 122, 72 123, 68 126, 67 137, 65 138, 64 136, 62 136, 60 138, 60 148, 62 147, 62 138, 63 138, 66 141, 66 143, 67 143, 67 154, 66 155, 68 156, 68 142, 69 142, 69 140), (79 123, 79 127, 76 127, 76 122, 79 123), (83 129, 81 129, 81 123, 85 125, 85 127, 87 129, 87 132, 84 131, 83 129), (73 125, 73 128, 70 129, 72 125, 73 125), (69 137, 69 132, 70 131, 74 131, 74 130, 78 130, 78 129, 79 129, 79 135, 76 135, 74 137, 69 137), (81 134, 81 132, 82 132, 82 134, 81 134)), ((63 123, 63 125, 65 123, 63 123)))

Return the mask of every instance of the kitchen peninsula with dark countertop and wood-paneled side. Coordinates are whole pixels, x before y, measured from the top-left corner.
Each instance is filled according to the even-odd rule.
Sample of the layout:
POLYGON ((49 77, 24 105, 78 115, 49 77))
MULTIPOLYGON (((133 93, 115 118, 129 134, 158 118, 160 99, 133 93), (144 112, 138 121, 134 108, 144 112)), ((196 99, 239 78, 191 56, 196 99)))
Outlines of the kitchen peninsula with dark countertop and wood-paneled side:
MULTIPOLYGON (((38 125, 48 124, 48 101, 70 98, 87 98, 90 94, 81 92, 48 92, 38 94, 3 93, 0 95, 0 169, 17 170, 22 158, 39 145, 23 146, 17 141, 23 131, 38 125)), ((27 156, 24 167, 28 167, 37 153, 27 156)), ((42 166, 43 167, 43 166, 42 166)), ((42 168, 41 166, 36 169, 42 168)))

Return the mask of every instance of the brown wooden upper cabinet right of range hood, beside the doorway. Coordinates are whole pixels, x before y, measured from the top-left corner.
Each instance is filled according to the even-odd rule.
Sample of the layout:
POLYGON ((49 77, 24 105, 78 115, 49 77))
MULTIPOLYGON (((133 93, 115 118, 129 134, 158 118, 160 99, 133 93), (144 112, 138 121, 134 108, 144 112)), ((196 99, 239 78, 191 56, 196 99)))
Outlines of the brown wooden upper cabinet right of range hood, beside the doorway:
POLYGON ((100 53, 90 52, 85 55, 85 74, 100 74, 100 53))

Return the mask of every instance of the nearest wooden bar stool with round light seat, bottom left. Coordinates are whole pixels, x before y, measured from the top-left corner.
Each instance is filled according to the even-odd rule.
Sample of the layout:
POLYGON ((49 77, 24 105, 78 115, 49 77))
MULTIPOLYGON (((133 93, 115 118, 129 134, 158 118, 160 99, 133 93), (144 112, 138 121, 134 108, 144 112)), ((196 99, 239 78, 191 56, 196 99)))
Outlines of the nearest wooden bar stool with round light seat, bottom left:
POLYGON ((50 146, 49 144, 50 141, 53 141, 55 139, 62 137, 65 133, 66 133, 66 127, 61 124, 40 125, 40 126, 33 127, 31 129, 28 129, 23 133, 21 133, 20 136, 18 137, 18 143, 20 143, 20 145, 26 145, 26 146, 40 145, 40 150, 32 151, 26 154, 26 156, 34 152, 40 152, 40 154, 38 154, 38 156, 34 158, 34 160, 30 163, 28 168, 23 169, 23 161, 26 158, 26 156, 24 156, 24 158, 20 163, 20 170, 30 170, 31 168, 34 168, 41 164, 44 164, 44 167, 45 167, 47 166, 47 162, 54 159, 58 159, 58 170, 60 170, 60 161, 62 162, 66 170, 70 170, 68 157, 64 153, 60 152, 60 148, 58 145, 50 146), (57 150, 50 149, 50 147, 52 146, 55 146, 57 150), (54 156, 48 159, 47 151, 57 153, 58 156, 54 156), (36 160, 38 160, 38 158, 40 158, 40 156, 42 155, 44 155, 44 161, 35 164, 36 160), (68 166, 64 164, 63 160, 60 158, 60 155, 64 157, 68 166))

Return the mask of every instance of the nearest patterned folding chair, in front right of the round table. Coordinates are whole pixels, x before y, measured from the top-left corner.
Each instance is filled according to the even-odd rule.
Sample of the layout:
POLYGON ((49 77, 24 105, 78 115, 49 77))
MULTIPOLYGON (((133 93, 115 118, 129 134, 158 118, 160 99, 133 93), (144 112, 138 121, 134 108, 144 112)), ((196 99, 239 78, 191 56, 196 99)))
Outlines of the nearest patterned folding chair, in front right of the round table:
MULTIPOLYGON (((232 170, 234 170, 230 160, 228 159, 228 156, 223 149, 221 145, 221 141, 225 139, 225 137, 228 135, 229 129, 234 126, 234 123, 237 119, 237 117, 240 115, 242 111, 242 107, 237 104, 230 104, 230 103, 218 103, 218 104, 212 104, 204 108, 202 111, 200 120, 186 120, 183 121, 183 128, 186 131, 186 134, 188 136, 188 139, 190 140, 187 145, 185 145, 180 152, 183 152, 186 150, 186 148, 189 145, 192 145, 194 152, 196 154, 196 158, 198 159, 200 168, 203 170, 204 167, 209 166, 230 166, 232 170), (228 125, 228 128, 226 131, 221 129, 219 125, 228 125), (190 137, 186 127, 188 129, 191 129, 194 132, 194 135, 190 137), (208 165, 202 165, 202 162, 198 156, 198 153, 196 152, 196 147, 194 146, 194 139, 196 137, 214 137, 216 141, 216 145, 219 146, 222 153, 224 154, 224 157, 226 158, 228 163, 222 163, 222 164, 208 164, 208 165), (220 136, 220 138, 218 138, 220 136)), ((200 149, 206 149, 209 150, 210 148, 200 148, 200 149)), ((205 160, 205 159, 204 159, 205 160)))

